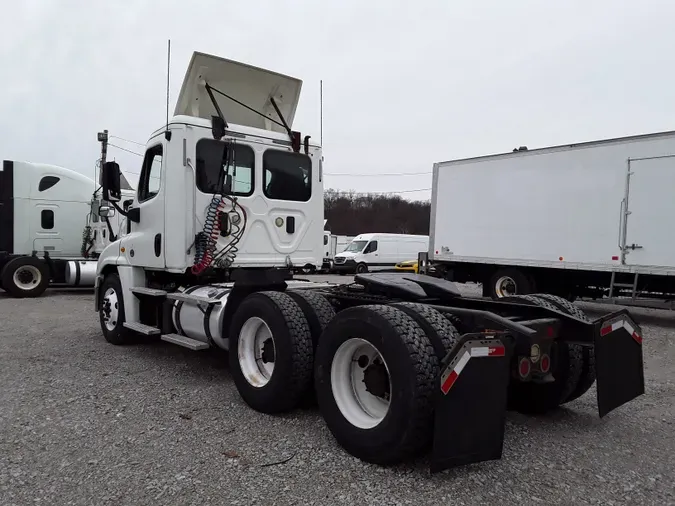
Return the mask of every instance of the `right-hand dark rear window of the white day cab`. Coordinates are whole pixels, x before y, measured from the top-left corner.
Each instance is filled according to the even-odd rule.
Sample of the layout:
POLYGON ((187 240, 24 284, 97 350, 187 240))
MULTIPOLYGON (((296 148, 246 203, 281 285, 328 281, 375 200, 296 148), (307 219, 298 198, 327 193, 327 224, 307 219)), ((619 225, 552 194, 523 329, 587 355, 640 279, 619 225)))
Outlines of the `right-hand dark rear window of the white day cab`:
POLYGON ((263 188, 269 199, 307 202, 312 196, 312 161, 307 155, 268 149, 263 155, 263 188))

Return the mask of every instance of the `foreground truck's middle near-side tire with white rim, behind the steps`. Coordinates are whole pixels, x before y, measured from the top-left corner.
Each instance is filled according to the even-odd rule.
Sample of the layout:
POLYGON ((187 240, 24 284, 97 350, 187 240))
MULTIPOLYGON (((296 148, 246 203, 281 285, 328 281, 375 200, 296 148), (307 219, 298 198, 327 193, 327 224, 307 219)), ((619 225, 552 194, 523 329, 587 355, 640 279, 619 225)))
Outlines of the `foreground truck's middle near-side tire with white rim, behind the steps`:
POLYGON ((311 387, 313 366, 312 336, 300 306, 283 292, 253 293, 234 313, 229 335, 230 370, 244 402, 268 414, 295 408, 311 387), (269 338, 258 341, 260 330, 271 345, 269 338), (263 371, 251 355, 258 352, 263 360, 273 358, 271 370, 263 371))

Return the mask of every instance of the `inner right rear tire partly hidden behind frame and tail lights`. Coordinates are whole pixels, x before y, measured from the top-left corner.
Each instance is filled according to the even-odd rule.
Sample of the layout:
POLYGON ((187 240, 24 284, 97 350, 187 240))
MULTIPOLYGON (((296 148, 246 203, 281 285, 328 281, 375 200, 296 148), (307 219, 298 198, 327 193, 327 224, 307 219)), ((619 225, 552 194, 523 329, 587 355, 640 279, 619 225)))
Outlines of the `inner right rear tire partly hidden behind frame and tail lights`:
MULTIPOLYGON (((531 295, 505 297, 513 301, 542 306, 552 310, 551 302, 531 295)), ((555 381, 533 383, 512 380, 509 384, 509 407, 521 413, 537 414, 551 411, 569 399, 579 384, 583 369, 581 347, 557 341, 551 347, 551 373, 555 381)))

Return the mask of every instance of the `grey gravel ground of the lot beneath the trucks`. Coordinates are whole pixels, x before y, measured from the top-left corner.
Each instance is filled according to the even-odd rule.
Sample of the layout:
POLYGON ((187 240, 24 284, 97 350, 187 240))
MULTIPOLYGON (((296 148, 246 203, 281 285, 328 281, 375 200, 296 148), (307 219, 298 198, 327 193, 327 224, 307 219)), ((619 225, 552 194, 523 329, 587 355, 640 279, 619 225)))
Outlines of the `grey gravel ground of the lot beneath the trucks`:
POLYGON ((511 413, 502 460, 430 476, 425 459, 352 458, 316 408, 252 411, 222 353, 109 345, 91 308, 91 293, 0 294, 3 506, 675 504, 672 316, 643 325, 646 395, 603 420, 594 389, 550 416, 511 413))

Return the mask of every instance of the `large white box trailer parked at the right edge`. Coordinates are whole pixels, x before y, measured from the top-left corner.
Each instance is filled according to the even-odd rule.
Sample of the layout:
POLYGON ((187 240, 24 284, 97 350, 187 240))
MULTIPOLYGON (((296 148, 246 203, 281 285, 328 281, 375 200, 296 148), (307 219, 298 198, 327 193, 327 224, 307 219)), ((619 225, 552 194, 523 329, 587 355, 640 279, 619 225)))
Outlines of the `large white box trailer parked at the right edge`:
POLYGON ((675 294, 675 132, 434 164, 429 259, 484 295, 675 294))

